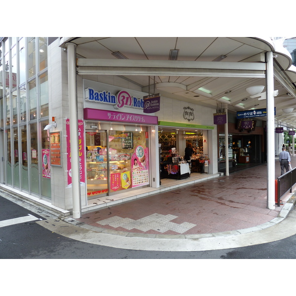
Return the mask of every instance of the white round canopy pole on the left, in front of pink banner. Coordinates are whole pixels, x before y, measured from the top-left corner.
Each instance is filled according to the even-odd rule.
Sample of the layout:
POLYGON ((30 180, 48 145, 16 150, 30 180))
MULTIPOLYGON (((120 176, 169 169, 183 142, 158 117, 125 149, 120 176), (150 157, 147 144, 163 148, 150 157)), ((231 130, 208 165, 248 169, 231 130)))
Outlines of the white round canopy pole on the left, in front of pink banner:
POLYGON ((81 218, 81 194, 79 176, 79 149, 78 149, 78 114, 76 92, 76 45, 67 43, 68 47, 68 86, 70 111, 70 149, 72 172, 73 218, 81 218))

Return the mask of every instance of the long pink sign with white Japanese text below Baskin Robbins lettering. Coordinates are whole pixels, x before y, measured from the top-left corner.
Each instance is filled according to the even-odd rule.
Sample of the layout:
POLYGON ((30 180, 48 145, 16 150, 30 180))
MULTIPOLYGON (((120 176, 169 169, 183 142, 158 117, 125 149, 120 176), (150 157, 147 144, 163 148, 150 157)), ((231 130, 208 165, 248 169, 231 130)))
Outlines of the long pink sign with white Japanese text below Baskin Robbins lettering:
POLYGON ((117 122, 131 122, 135 124, 158 124, 157 116, 149 116, 144 114, 125 113, 117 111, 99 110, 99 109, 84 109, 85 120, 106 120, 117 122))

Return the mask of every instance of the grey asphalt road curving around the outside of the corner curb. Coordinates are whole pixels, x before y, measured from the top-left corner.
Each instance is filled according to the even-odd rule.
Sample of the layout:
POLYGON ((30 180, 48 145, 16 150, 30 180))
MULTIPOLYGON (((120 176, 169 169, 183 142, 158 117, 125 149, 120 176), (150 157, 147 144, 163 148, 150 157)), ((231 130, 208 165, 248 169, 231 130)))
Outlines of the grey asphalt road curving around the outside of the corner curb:
MULTIPOLYGON (((28 210, 0 196, 0 222, 28 214, 46 223, 46 213, 28 210)), ((49 217, 52 219, 52 216, 49 217)), ((58 223, 59 219, 50 220, 51 223, 55 221, 58 223)), ((296 259, 296 235, 265 244, 225 250, 141 251, 70 239, 37 222, 19 222, 0 227, 0 259, 296 259)))

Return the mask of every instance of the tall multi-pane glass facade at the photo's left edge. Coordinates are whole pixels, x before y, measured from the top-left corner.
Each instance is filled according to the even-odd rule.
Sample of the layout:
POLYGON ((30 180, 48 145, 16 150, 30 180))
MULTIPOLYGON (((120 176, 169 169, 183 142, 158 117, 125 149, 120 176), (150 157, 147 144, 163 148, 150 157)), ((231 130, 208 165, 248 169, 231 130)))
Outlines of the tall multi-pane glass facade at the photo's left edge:
POLYGON ((50 175, 42 174, 42 151, 49 149, 47 44, 47 37, 0 41, 0 182, 48 200, 50 175))

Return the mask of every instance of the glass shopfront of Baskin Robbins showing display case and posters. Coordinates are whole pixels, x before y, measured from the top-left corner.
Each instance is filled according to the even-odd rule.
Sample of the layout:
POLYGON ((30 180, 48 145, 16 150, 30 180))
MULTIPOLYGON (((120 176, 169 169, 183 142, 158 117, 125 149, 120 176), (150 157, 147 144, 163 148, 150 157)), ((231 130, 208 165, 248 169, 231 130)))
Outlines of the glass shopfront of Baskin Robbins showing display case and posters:
POLYGON ((146 127, 86 129, 85 144, 88 200, 149 184, 146 127))

